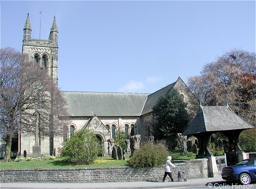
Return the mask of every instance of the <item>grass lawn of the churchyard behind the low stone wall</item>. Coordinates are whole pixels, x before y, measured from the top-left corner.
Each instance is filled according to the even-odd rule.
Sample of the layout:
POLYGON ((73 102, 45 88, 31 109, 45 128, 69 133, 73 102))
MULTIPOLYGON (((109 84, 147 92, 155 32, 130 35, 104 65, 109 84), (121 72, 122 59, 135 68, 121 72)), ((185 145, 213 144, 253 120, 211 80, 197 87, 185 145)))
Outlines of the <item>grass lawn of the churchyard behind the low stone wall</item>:
MULTIPOLYGON (((180 156, 180 151, 171 151, 170 155, 173 157, 173 163, 181 162, 175 160, 189 160, 195 159, 195 153, 187 153, 184 156, 180 156)), ((128 166, 126 160, 115 160, 110 157, 98 157, 93 164, 90 165, 70 165, 63 161, 61 158, 55 158, 54 160, 43 161, 9 161, 4 162, 1 160, 0 169, 70 169, 70 168, 95 168, 95 167, 121 167, 128 166)))

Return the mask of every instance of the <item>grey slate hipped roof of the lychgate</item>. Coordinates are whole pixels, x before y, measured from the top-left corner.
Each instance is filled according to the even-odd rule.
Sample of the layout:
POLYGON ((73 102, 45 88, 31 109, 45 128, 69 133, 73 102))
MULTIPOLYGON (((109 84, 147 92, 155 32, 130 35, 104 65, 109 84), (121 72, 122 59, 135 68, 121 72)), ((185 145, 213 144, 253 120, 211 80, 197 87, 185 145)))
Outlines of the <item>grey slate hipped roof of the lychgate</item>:
POLYGON ((254 127, 236 115, 228 106, 200 106, 196 116, 182 135, 246 128, 254 127))

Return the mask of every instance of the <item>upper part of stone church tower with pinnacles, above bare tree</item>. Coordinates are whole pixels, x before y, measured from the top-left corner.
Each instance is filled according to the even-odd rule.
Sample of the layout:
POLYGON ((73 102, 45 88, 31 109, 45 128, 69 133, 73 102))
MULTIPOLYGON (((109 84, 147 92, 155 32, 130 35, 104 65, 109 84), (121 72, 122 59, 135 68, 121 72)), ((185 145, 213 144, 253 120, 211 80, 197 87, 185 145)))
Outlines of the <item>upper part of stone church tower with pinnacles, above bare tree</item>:
POLYGON ((58 29, 53 19, 49 39, 31 39, 29 13, 23 29, 22 54, 31 61, 46 68, 52 81, 58 85, 58 29))

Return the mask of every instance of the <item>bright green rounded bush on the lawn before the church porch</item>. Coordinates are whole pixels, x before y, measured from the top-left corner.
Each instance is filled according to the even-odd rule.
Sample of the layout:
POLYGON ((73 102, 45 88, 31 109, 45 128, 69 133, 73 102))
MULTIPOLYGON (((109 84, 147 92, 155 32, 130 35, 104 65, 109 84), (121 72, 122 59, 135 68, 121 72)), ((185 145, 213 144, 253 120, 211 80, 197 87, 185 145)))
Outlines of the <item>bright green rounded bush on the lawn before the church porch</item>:
POLYGON ((61 156, 72 164, 92 164, 101 152, 96 135, 84 129, 76 132, 63 144, 61 156))

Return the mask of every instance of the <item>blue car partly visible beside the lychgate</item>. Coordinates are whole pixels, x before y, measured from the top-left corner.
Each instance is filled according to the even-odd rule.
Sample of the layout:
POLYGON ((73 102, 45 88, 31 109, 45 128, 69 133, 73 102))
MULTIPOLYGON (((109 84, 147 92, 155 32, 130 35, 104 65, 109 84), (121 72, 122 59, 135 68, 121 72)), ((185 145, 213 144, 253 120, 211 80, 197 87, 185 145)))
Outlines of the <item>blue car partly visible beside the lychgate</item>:
POLYGON ((239 181, 244 185, 256 181, 256 159, 244 159, 234 166, 223 167, 222 179, 239 181))

